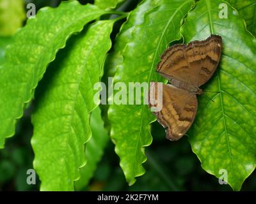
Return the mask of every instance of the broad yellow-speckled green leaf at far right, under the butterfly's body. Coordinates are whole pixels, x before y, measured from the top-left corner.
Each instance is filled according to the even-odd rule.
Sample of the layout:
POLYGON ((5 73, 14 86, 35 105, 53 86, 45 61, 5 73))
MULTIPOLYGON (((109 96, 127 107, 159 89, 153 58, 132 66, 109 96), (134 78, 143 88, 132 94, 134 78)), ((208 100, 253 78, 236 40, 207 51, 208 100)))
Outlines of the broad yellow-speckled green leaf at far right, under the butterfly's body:
POLYGON ((228 184, 239 190, 256 162, 256 39, 232 7, 227 19, 219 18, 220 3, 199 1, 181 29, 186 43, 211 33, 223 39, 220 66, 204 88, 217 93, 205 93, 214 102, 198 97, 189 142, 205 171, 219 178, 226 170, 228 184))

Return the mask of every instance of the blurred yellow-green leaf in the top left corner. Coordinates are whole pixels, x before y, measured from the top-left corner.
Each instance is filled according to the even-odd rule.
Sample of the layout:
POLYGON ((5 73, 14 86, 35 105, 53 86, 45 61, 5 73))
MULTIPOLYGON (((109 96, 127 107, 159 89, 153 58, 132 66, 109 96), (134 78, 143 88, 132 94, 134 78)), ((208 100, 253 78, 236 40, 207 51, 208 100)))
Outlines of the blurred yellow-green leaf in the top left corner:
POLYGON ((0 0, 0 36, 11 36, 26 18, 23 0, 0 0))

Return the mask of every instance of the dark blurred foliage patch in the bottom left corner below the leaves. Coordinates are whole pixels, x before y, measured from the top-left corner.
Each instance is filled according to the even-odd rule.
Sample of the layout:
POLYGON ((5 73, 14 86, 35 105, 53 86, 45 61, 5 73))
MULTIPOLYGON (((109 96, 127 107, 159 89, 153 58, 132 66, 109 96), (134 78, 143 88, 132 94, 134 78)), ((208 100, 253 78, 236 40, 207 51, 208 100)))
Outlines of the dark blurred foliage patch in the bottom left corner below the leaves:
MULTIPOLYGON (((0 150, 0 191, 35 191, 35 186, 28 185, 27 170, 33 169, 33 150, 31 136, 33 127, 30 122, 30 107, 17 123, 16 135, 6 142, 6 148, 0 150)), ((38 181, 38 179, 36 179, 38 181)))

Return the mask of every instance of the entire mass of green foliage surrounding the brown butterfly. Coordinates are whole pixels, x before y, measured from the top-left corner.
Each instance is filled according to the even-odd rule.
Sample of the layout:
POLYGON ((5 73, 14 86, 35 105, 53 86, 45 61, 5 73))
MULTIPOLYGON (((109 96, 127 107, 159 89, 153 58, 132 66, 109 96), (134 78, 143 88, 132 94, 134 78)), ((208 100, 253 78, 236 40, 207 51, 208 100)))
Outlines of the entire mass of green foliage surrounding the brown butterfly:
MULTIPOLYGON (((33 2, 40 8, 61 1, 33 2)), ((241 189, 256 164, 255 1, 228 0, 227 18, 219 17, 220 4, 227 3, 222 0, 138 2, 63 2, 42 8, 14 36, 0 38, 0 148, 5 138, 16 135, 0 151, 0 189, 39 189, 40 182, 26 184, 29 168, 35 168, 42 191, 230 190, 216 179, 223 170, 232 189, 241 189), (115 24, 126 17, 116 7, 129 11, 123 25, 115 24), (121 16, 102 20, 112 14, 121 16), (129 82, 145 82, 146 88, 151 80, 166 82, 154 71, 164 50, 211 33, 222 36, 223 53, 216 73, 202 87, 207 97, 198 96, 189 140, 184 136, 168 142, 147 105, 114 104, 109 110, 102 105, 100 112, 95 83, 113 76, 114 85, 124 82, 127 87, 129 82), (154 142, 145 152, 151 134, 154 142)), ((22 3, 0 0, 0 35, 22 25, 22 3), (7 4, 10 10, 3 10, 7 4)), ((145 90, 134 104, 147 99, 145 90)), ((120 89, 110 103, 113 97, 120 99, 116 94, 120 89)), ((243 189, 255 189, 254 179, 252 175, 243 189)))

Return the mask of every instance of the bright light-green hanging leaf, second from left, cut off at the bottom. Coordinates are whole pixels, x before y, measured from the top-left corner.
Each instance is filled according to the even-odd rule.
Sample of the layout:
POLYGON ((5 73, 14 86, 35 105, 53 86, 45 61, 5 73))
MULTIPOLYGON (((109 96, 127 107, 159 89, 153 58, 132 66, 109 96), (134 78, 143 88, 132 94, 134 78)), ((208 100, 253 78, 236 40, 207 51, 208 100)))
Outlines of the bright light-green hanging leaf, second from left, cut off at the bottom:
POLYGON ((99 105, 94 101, 93 85, 102 76, 113 20, 93 24, 84 34, 68 41, 59 70, 38 101, 32 117, 35 152, 34 167, 42 181, 42 191, 74 190, 80 177, 78 168, 86 164, 84 143, 88 142, 90 112, 99 105), (68 52, 70 50, 70 52, 68 52))

